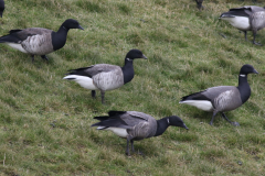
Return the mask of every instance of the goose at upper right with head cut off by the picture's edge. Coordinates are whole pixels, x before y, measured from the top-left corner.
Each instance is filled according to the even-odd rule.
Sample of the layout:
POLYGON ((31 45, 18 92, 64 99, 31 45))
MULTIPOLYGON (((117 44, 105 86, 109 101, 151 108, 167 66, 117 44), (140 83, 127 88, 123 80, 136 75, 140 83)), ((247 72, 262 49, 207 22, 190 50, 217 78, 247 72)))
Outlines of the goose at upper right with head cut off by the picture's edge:
POLYGON ((246 6, 242 8, 230 9, 229 12, 220 15, 221 20, 229 21, 231 25, 243 31, 245 34, 247 31, 253 32, 253 44, 261 45, 255 42, 256 33, 258 30, 265 28, 265 9, 255 6, 246 6))

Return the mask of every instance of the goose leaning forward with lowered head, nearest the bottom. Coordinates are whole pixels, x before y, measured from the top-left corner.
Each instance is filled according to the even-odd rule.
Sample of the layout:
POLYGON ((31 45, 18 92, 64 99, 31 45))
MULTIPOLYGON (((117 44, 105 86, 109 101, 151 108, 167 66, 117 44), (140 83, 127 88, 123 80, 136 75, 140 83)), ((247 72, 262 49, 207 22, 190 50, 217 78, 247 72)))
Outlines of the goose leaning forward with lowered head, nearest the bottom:
POLYGON ((109 111, 108 116, 95 117, 94 119, 100 122, 92 124, 92 127, 98 127, 97 130, 109 130, 116 135, 127 139, 126 155, 130 155, 129 142, 131 151, 135 152, 134 141, 161 135, 169 125, 189 130, 183 121, 176 116, 156 120, 149 114, 137 111, 109 111))

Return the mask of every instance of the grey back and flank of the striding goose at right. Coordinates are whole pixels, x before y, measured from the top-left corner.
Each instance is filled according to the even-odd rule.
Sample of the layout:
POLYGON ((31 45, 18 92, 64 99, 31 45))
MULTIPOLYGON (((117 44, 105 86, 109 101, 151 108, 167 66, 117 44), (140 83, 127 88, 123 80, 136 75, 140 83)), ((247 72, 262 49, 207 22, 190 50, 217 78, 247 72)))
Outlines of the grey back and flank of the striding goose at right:
POLYGON ((242 106, 240 90, 234 86, 211 87, 202 92, 211 99, 214 110, 231 111, 242 106))

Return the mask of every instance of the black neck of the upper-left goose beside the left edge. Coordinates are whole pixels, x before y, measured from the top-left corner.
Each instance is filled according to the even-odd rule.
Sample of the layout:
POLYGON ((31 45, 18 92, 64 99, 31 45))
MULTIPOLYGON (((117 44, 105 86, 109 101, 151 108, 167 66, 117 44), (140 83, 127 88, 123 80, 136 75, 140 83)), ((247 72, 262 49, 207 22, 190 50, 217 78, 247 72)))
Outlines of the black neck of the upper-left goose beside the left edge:
POLYGON ((67 38, 68 29, 61 25, 57 32, 52 32, 53 51, 62 48, 67 38))

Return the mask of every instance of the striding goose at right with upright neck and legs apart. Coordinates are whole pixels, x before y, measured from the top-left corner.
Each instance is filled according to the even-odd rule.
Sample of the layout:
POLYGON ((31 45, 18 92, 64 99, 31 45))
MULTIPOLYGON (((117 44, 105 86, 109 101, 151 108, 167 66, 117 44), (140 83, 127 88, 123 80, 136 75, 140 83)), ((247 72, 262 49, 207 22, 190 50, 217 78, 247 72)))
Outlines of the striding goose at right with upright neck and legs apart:
POLYGON ((234 110, 241 107, 251 96, 251 87, 247 82, 247 74, 258 74, 252 65, 243 65, 239 75, 239 86, 218 86, 211 87, 203 91, 191 94, 189 96, 182 97, 179 103, 186 103, 194 106, 198 109, 204 111, 212 111, 212 120, 210 124, 212 125, 214 117, 218 112, 221 112, 222 117, 229 121, 231 124, 237 127, 240 123, 231 122, 226 116, 225 111, 234 110))

